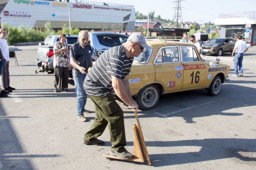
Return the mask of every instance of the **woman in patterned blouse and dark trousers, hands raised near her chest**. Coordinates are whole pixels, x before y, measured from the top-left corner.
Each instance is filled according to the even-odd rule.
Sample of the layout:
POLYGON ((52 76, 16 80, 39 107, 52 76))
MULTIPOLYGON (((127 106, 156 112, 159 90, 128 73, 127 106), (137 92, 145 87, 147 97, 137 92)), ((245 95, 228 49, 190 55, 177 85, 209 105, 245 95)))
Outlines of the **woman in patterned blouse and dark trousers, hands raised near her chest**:
POLYGON ((68 90, 68 55, 70 49, 68 49, 68 44, 66 43, 66 35, 60 34, 60 41, 54 43, 53 45, 53 67, 54 67, 54 92, 58 92, 61 88, 63 91, 68 90))

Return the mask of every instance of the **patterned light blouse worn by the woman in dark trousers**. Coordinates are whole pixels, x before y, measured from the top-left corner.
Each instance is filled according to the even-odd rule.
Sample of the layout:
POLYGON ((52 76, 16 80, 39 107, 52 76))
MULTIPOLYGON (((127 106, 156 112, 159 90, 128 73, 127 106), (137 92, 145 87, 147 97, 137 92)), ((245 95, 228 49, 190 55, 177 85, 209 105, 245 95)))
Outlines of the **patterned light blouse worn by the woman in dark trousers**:
POLYGON ((63 47, 67 47, 67 50, 63 50, 60 53, 54 55, 53 58, 53 67, 60 66, 60 67, 68 67, 68 44, 64 43, 63 45, 60 43, 60 41, 54 43, 53 45, 53 51, 58 51, 63 47), (64 58, 64 56, 67 56, 64 58))

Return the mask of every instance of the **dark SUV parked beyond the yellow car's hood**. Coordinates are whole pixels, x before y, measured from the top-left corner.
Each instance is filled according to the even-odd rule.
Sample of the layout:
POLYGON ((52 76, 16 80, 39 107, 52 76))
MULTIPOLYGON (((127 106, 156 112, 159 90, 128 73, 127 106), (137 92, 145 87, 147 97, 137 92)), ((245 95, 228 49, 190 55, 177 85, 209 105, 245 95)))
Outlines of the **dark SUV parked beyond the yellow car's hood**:
POLYGON ((235 43, 234 38, 214 38, 202 45, 203 55, 213 54, 222 56, 223 53, 232 53, 235 43))

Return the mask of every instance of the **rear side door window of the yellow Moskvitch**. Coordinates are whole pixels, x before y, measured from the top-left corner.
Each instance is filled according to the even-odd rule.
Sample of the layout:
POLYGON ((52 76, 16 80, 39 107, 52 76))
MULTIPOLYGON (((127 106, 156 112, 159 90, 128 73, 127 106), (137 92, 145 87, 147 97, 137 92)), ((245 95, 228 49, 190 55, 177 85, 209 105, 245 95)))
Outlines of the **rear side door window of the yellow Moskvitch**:
POLYGON ((179 62, 179 47, 167 46, 161 48, 156 56, 155 63, 160 62, 179 62))

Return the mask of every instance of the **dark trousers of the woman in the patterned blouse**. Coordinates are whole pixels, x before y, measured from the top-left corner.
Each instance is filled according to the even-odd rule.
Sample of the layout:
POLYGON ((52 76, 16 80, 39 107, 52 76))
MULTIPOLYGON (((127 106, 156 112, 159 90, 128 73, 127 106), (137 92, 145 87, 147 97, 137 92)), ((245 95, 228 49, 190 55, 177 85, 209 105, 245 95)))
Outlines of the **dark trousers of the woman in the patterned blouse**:
POLYGON ((68 88, 68 67, 54 67, 55 82, 54 87, 68 88))

